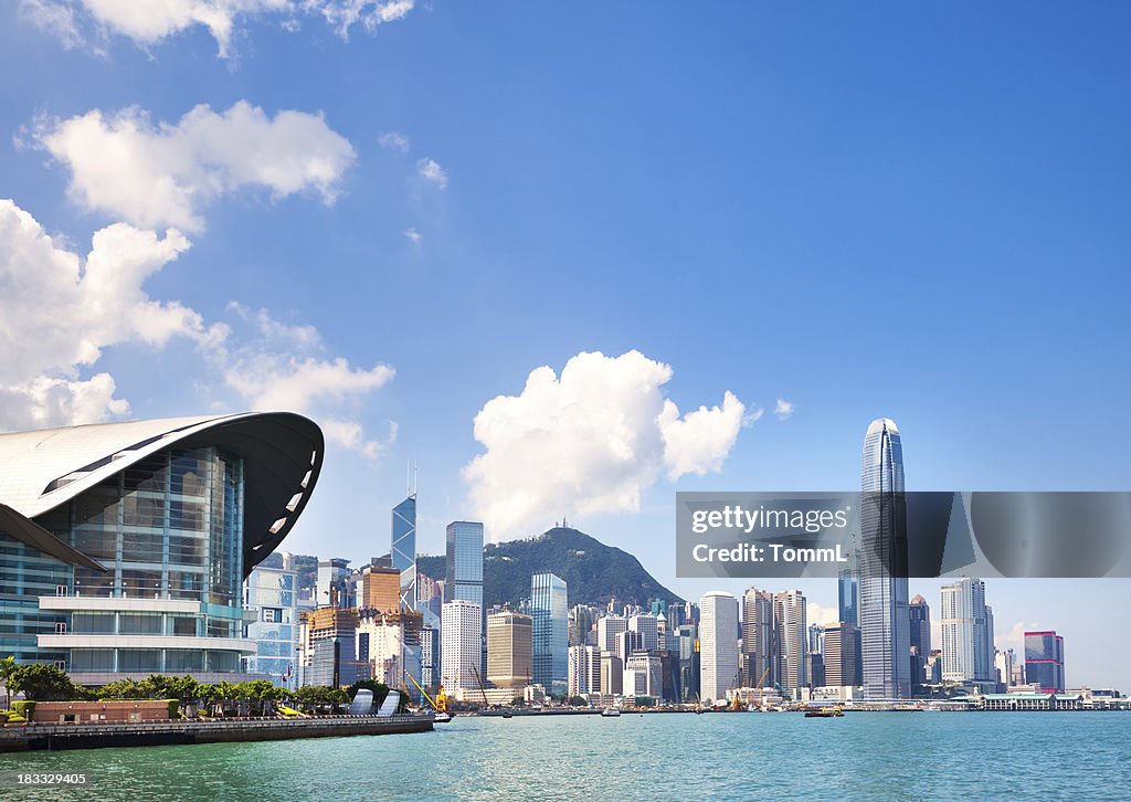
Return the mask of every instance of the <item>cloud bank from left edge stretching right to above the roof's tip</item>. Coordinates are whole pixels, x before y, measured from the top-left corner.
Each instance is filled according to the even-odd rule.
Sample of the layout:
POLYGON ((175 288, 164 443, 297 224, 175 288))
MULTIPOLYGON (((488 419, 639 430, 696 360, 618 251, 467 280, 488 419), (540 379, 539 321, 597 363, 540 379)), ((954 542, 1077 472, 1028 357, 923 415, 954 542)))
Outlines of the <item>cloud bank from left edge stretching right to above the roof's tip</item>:
POLYGON ((231 304, 227 320, 207 324, 175 301, 150 299, 145 282, 188 248, 175 228, 159 236, 115 223, 94 234, 83 258, 14 201, 0 200, 0 430, 128 414, 129 402, 118 397, 110 373, 85 373, 112 346, 159 350, 182 338, 197 346, 206 380, 241 408, 311 414, 331 443, 379 457, 396 438, 396 424, 372 436, 357 417, 362 402, 392 379, 392 368, 354 368, 327 356, 314 327, 282 322, 265 310, 231 304))

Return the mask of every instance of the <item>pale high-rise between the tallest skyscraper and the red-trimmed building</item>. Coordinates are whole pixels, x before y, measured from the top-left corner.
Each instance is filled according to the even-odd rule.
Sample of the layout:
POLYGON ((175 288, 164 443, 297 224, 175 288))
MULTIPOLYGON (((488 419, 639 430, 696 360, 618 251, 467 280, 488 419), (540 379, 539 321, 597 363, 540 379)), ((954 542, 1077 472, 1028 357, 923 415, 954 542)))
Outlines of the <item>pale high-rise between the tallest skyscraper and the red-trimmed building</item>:
POLYGON ((993 618, 985 583, 964 577, 941 592, 942 680, 993 683, 993 618))

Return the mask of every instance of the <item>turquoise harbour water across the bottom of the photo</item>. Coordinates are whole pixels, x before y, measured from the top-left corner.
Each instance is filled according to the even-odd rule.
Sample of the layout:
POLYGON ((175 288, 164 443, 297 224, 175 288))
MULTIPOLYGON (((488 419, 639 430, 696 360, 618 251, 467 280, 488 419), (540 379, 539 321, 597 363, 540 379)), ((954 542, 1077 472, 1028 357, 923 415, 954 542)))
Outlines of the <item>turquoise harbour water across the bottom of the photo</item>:
POLYGON ((0 754, 100 800, 1131 799, 1131 714, 456 718, 416 735, 0 754))

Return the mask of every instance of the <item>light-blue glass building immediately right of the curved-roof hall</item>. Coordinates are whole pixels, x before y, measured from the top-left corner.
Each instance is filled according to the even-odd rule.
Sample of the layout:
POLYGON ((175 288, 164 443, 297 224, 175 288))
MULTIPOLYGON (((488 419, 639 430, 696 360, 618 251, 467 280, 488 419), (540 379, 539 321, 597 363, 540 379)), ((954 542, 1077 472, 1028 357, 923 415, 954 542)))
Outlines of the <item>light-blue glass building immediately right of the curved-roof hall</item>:
POLYGON ((276 552, 252 568, 243 583, 244 637, 256 641, 256 653, 243 658, 243 670, 266 674, 291 690, 299 684, 297 579, 297 571, 285 570, 276 552))

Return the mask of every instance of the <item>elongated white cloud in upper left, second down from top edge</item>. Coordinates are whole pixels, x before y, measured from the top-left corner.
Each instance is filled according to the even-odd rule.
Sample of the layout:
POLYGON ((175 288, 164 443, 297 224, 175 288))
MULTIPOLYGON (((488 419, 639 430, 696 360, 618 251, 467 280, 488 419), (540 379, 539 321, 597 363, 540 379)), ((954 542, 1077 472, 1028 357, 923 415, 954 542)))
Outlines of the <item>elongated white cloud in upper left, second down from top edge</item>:
POLYGON ((240 101, 223 113, 198 105, 176 124, 147 112, 94 110, 40 121, 34 141, 70 170, 81 206, 139 226, 204 227, 202 208, 242 188, 273 198, 317 192, 334 202, 353 163, 353 146, 321 114, 282 111, 269 118, 240 101))

